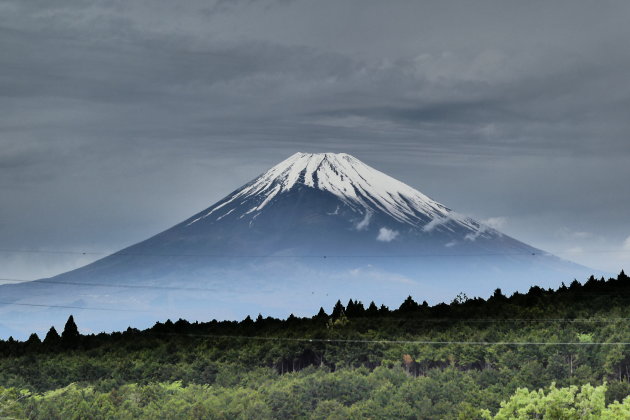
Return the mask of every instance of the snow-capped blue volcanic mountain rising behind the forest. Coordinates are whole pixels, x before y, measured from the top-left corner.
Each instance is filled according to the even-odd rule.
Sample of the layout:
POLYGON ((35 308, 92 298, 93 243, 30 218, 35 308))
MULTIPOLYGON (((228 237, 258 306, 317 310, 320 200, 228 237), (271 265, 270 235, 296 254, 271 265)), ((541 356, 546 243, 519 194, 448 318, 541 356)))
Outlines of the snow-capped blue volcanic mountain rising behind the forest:
POLYGON ((21 305, 3 305, 0 315, 20 332, 74 312, 99 331, 167 317, 310 314, 337 299, 435 302, 587 273, 350 155, 296 153, 143 242, 50 279, 1 286, 2 302, 21 305))

